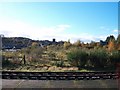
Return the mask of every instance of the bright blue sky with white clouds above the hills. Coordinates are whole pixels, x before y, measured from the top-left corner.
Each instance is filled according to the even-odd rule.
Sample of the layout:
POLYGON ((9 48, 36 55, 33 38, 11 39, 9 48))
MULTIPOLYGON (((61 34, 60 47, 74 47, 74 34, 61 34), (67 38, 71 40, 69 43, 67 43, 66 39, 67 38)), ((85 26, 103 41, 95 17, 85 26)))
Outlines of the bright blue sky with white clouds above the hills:
POLYGON ((0 3, 0 34, 36 40, 105 40, 118 34, 118 3, 0 3))

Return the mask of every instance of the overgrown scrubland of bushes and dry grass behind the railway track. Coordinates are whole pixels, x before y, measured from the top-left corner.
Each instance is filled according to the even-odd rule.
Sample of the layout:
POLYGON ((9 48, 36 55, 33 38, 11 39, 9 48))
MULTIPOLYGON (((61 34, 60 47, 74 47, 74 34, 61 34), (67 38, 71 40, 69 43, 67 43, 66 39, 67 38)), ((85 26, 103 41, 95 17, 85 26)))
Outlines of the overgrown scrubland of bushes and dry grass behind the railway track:
POLYGON ((106 45, 100 42, 84 44, 70 40, 60 45, 40 47, 37 42, 17 51, 3 51, 3 69, 9 66, 18 70, 74 71, 83 69, 115 68, 120 63, 120 36, 107 37, 106 45), (31 69, 32 68, 32 69, 31 69), (78 68, 78 69, 77 69, 78 68))

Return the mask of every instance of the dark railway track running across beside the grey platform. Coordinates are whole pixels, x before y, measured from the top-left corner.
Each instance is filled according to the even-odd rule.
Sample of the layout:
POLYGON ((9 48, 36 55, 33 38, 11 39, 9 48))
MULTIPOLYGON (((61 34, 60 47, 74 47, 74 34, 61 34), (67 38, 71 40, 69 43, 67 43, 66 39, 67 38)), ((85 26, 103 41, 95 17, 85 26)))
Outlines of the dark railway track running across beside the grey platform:
POLYGON ((2 71, 2 79, 27 80, 96 80, 118 79, 115 72, 13 72, 2 71))

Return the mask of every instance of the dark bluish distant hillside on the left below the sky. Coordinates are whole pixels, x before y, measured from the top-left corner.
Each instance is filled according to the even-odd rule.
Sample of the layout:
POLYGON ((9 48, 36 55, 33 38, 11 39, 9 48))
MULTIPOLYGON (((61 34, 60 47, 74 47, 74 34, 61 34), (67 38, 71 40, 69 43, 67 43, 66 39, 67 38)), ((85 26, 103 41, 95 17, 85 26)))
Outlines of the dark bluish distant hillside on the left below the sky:
POLYGON ((2 47, 3 49, 21 49, 31 46, 33 42, 39 43, 40 46, 47 46, 51 44, 63 44, 63 41, 49 41, 49 40, 32 40, 24 37, 2 37, 2 47))

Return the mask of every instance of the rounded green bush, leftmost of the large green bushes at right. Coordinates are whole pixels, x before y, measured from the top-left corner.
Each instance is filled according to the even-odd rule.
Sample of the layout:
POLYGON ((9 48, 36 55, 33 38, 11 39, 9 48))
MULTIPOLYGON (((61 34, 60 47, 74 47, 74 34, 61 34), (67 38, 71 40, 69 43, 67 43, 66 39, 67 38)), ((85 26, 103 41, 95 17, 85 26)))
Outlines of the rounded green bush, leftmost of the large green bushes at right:
POLYGON ((67 59, 69 60, 70 64, 77 67, 84 67, 87 60, 88 54, 84 50, 73 50, 68 53, 67 59))

